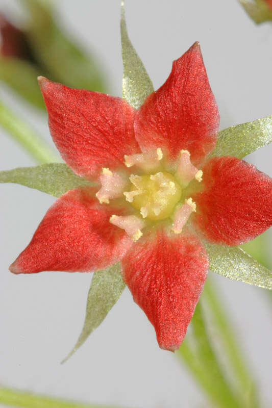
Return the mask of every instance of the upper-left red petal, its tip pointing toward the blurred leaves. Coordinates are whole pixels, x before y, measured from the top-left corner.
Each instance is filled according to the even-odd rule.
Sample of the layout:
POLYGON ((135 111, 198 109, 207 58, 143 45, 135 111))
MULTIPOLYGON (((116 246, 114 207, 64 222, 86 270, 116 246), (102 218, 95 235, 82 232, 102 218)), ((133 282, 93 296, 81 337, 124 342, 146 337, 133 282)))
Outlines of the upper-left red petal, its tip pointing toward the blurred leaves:
POLYGON ((134 109, 125 100, 71 89, 40 77, 48 123, 61 156, 77 174, 97 176, 102 167, 124 166, 123 156, 139 152, 134 109))

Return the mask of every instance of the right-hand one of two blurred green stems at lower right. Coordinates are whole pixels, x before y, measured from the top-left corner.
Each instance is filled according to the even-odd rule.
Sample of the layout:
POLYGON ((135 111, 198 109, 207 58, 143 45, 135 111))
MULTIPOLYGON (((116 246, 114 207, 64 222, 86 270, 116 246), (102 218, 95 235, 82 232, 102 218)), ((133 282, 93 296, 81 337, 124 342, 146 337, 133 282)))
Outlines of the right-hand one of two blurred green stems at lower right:
POLYGON ((222 346, 224 347, 224 350, 228 355, 229 363, 236 377, 235 383, 237 384, 237 390, 240 390, 241 396, 243 398, 248 397, 247 406, 259 406, 257 402, 257 393, 254 385, 254 380, 251 378, 249 370, 246 367, 245 362, 243 361, 242 354, 237 345, 231 324, 227 318, 221 302, 216 296, 216 292, 210 280, 208 280, 205 285, 203 299, 209 306, 213 323, 217 328, 217 333, 220 335, 220 342, 222 343, 222 346), (250 396, 246 396, 246 390, 251 390, 250 396))

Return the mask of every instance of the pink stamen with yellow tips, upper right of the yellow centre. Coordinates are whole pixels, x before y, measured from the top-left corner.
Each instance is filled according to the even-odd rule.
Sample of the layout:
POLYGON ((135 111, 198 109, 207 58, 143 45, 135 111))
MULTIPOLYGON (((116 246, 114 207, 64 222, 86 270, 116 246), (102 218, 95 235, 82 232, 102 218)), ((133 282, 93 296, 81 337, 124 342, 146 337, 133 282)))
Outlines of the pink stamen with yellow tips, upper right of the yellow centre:
POLYGON ((176 176, 180 181, 180 185, 182 188, 188 186, 191 180, 194 178, 198 181, 202 181, 203 171, 198 170, 196 167, 193 166, 190 160, 190 153, 188 150, 181 150, 180 161, 178 164, 178 169, 176 176))

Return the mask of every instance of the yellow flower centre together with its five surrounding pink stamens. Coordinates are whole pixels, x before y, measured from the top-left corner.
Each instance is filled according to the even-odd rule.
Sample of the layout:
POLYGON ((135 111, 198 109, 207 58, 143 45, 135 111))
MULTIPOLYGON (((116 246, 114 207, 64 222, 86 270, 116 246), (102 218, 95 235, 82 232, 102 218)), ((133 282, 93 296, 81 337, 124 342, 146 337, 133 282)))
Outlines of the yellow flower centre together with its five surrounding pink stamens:
POLYGON ((181 150, 175 174, 164 169, 161 148, 147 154, 125 156, 127 167, 138 167, 140 174, 131 174, 129 179, 123 171, 112 172, 108 168, 102 169, 100 176, 101 188, 96 193, 100 203, 109 203, 110 199, 125 196, 132 207, 140 214, 117 216, 112 214, 110 223, 123 230, 137 241, 142 235, 143 228, 149 225, 145 218, 157 221, 170 218, 171 230, 181 234, 184 225, 192 212, 196 211, 195 202, 191 197, 181 200, 182 190, 193 180, 202 181, 202 170, 197 169, 190 161, 188 150, 181 150), (152 173, 152 174, 150 174, 152 173))

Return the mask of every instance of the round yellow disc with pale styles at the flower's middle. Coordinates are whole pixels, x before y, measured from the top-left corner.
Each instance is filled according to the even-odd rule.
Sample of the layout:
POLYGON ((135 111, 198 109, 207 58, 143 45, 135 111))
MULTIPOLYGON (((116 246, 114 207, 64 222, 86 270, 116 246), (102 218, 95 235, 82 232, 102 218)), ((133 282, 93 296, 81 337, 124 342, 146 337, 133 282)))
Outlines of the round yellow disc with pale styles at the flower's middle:
POLYGON ((170 173, 131 175, 130 181, 131 205, 140 210, 143 218, 163 220, 169 217, 181 198, 181 187, 170 173))

